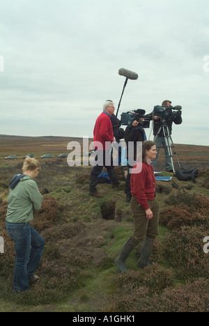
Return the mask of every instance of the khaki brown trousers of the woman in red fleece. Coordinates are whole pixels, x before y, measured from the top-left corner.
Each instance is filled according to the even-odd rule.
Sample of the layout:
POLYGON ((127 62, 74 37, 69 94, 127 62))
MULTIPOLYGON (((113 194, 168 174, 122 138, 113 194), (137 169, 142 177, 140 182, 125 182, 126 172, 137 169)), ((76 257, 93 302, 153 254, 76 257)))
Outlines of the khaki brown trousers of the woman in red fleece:
POLYGON ((159 210, 160 205, 157 199, 148 201, 150 210, 153 212, 153 218, 148 220, 144 208, 139 205, 136 197, 131 200, 132 216, 134 219, 134 233, 131 236, 132 240, 139 244, 144 241, 145 236, 154 239, 159 233, 159 210))

